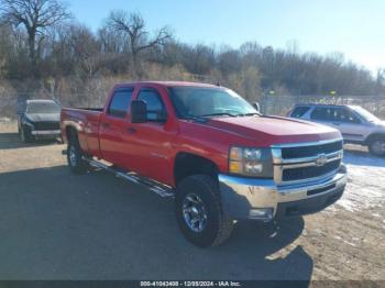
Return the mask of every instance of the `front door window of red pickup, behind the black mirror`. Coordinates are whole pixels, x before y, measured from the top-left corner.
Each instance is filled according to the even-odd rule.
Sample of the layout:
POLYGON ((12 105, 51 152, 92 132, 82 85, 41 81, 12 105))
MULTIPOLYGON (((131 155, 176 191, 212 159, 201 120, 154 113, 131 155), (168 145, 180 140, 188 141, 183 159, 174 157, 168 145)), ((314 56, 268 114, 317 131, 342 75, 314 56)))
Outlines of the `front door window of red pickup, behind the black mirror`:
POLYGON ((138 100, 142 100, 147 104, 147 120, 160 121, 166 115, 166 109, 162 102, 161 96, 153 89, 143 89, 138 96, 138 100))

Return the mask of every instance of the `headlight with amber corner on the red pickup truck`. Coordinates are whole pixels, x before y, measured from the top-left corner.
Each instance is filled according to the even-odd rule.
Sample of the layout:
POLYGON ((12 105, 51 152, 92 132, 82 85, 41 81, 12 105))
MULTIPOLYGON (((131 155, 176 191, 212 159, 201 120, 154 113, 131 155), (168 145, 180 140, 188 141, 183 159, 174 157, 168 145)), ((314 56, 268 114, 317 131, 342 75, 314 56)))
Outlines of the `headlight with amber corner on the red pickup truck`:
POLYGON ((270 148, 231 147, 229 173, 249 177, 273 178, 273 158, 270 148))

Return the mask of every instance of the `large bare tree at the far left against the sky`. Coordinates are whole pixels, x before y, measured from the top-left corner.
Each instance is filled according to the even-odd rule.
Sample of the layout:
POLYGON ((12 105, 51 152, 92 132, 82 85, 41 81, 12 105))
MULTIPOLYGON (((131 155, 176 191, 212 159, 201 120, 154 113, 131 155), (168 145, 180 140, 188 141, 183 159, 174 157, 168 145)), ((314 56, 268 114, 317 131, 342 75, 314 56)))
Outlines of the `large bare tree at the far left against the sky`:
POLYGON ((66 5, 57 0, 0 0, 0 14, 3 21, 25 29, 33 73, 47 31, 70 16, 66 5))

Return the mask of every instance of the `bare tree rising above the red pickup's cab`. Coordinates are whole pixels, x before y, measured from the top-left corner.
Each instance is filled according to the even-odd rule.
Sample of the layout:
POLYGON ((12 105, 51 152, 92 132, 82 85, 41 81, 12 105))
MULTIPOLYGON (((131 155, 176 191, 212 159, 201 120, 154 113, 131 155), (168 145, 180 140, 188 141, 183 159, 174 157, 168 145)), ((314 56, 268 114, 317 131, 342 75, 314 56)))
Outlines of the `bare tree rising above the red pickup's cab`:
POLYGON ((140 74, 138 57, 140 52, 163 46, 172 37, 172 33, 166 26, 150 37, 150 32, 145 27, 145 22, 140 13, 127 13, 125 11, 112 11, 107 20, 107 26, 125 33, 128 35, 129 47, 132 55, 133 66, 140 74))

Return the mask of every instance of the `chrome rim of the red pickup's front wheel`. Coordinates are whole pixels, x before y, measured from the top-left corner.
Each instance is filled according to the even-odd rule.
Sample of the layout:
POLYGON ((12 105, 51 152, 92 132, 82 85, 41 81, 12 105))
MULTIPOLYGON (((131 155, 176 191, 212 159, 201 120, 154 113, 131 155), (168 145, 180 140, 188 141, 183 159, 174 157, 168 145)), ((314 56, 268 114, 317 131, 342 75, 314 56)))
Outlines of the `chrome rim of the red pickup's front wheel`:
POLYGON ((189 193, 183 200, 183 217, 187 226, 200 233, 207 225, 207 209, 204 201, 196 193, 189 193))

